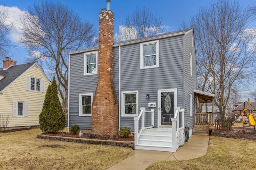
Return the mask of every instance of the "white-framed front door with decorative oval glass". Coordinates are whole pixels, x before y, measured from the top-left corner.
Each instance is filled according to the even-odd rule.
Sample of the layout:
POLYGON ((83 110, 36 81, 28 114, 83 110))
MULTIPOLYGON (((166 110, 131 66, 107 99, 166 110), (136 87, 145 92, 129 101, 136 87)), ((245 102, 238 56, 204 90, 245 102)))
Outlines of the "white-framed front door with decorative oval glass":
POLYGON ((170 127, 177 107, 177 88, 158 90, 158 127, 170 127))

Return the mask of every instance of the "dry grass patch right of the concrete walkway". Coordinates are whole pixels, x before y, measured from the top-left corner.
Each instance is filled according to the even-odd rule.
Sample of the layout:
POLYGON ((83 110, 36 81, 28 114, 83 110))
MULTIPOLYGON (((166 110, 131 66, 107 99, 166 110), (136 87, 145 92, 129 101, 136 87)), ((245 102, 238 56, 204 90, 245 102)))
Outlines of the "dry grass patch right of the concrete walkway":
POLYGON ((256 142, 210 137, 207 154, 192 160, 154 162, 147 170, 256 169, 256 142))

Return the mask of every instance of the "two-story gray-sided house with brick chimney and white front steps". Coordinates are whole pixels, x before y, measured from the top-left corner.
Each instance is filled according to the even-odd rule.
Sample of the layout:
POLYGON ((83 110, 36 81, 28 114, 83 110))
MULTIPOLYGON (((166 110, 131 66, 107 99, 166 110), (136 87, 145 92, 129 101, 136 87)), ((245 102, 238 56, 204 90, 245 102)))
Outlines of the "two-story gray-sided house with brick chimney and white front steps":
POLYGON ((114 43, 107 2, 99 45, 68 54, 68 129, 78 124, 113 137, 128 126, 135 149, 170 152, 201 125, 209 133, 213 113, 196 113, 195 101, 213 103, 214 94, 196 90, 193 29, 114 43))

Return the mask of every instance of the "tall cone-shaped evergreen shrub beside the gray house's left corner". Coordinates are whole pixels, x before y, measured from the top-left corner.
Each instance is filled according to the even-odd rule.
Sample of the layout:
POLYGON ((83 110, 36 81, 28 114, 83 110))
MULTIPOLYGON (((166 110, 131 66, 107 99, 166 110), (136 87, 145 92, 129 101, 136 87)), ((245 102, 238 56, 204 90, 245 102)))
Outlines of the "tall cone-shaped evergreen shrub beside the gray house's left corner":
POLYGON ((48 86, 42 112, 39 115, 40 129, 44 133, 58 133, 65 128, 66 117, 62 110, 55 78, 48 86))

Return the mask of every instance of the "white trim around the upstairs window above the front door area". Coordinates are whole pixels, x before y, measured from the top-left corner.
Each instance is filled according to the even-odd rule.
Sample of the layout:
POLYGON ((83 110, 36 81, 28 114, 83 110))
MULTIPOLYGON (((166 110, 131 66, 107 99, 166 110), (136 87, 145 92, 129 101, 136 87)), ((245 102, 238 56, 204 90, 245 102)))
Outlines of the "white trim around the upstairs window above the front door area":
POLYGON ((140 69, 157 68, 157 67, 159 67, 159 40, 140 43, 140 69), (150 45, 150 44, 156 44, 156 65, 154 65, 154 66, 144 66, 143 46, 144 45, 150 45))

